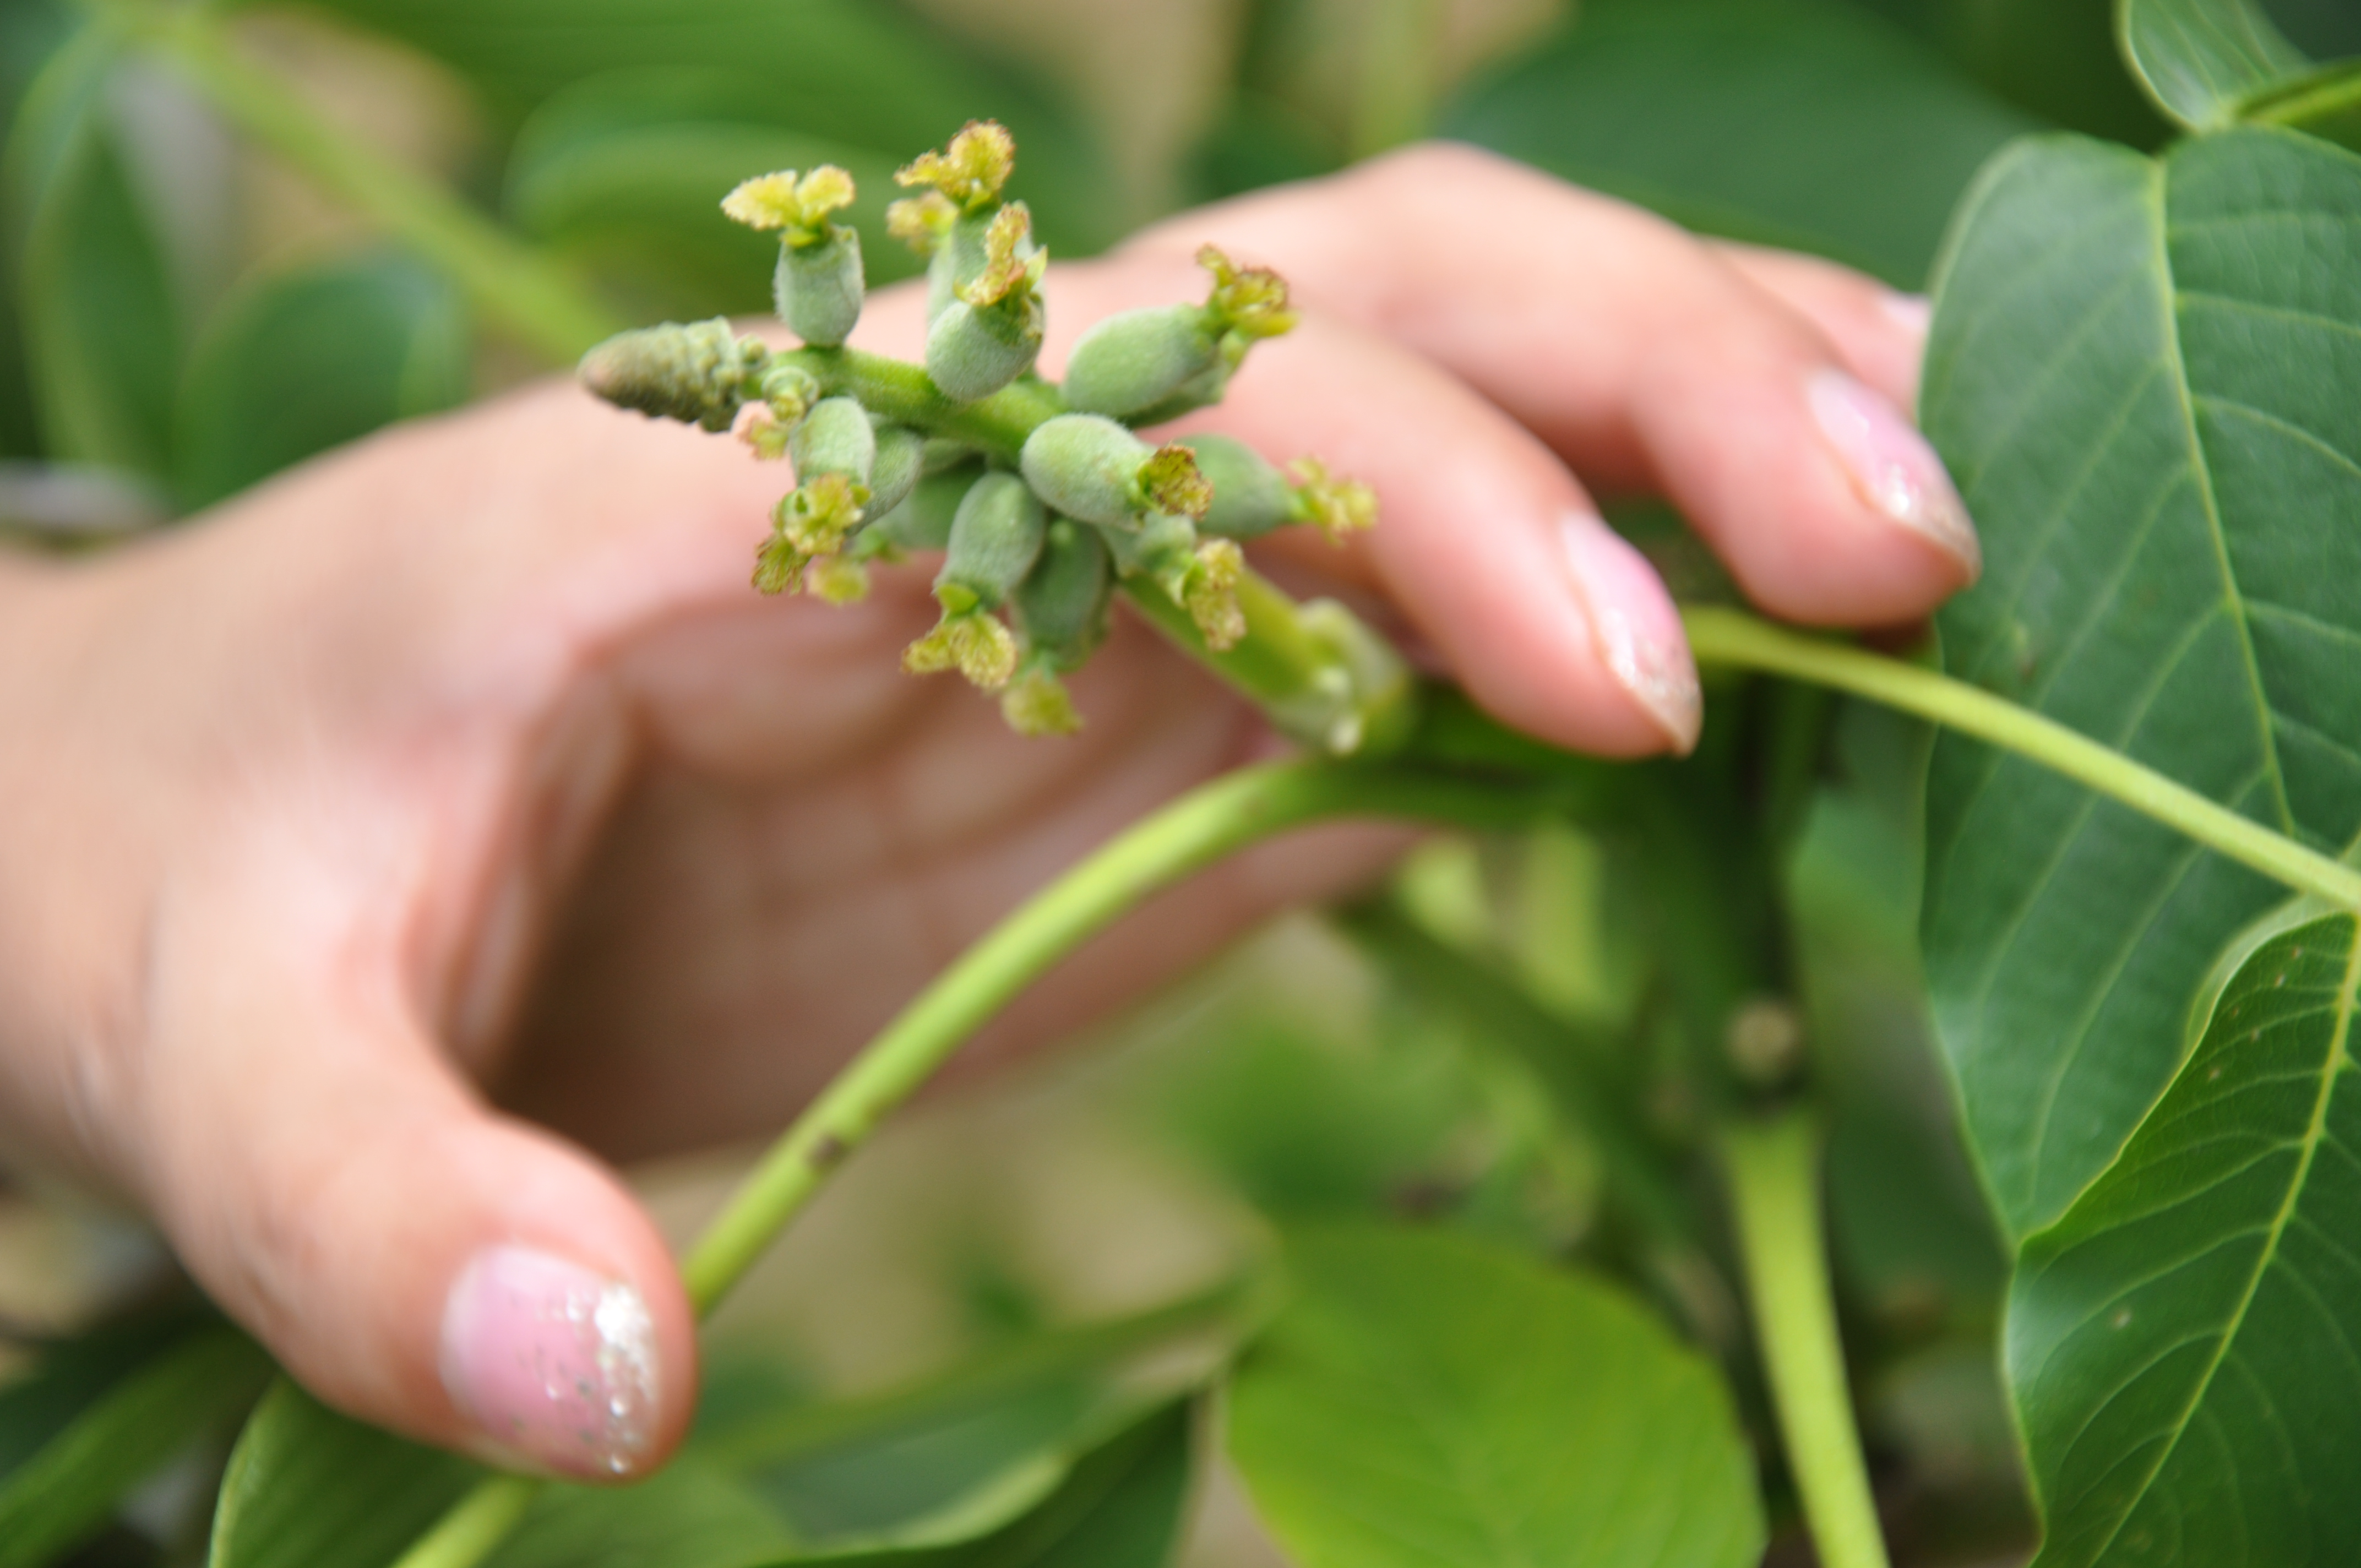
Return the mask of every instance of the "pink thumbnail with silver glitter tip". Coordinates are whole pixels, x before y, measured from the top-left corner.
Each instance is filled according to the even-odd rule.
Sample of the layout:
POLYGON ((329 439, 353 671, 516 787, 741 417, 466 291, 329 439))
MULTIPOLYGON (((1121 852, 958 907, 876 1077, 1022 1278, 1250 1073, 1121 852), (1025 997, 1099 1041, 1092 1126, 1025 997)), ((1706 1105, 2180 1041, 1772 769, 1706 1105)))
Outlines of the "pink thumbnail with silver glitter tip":
POLYGON ((442 1379, 503 1450, 569 1476, 628 1476, 656 1419, 656 1329, 621 1280, 489 1247, 444 1306, 442 1379))

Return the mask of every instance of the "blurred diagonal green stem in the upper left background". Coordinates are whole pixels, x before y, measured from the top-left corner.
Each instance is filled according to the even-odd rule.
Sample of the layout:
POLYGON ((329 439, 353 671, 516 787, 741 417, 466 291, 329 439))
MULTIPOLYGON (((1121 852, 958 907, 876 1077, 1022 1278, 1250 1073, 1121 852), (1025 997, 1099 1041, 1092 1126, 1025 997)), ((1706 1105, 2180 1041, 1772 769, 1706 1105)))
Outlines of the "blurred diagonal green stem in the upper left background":
POLYGON ((446 272, 489 321, 527 347, 555 364, 574 364, 593 342, 621 331, 621 321, 571 274, 432 179, 345 135, 274 73, 238 57, 201 7, 153 9, 106 0, 106 9, 238 130, 446 272))

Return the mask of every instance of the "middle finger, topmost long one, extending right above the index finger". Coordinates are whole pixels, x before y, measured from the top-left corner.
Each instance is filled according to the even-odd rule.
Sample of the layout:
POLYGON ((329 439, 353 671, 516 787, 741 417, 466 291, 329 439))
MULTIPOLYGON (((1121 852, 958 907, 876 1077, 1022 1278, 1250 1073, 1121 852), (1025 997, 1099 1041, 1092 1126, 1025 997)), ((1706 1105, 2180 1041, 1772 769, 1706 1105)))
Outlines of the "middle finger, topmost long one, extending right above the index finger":
POLYGON ((1903 413, 1811 321, 1646 213, 1426 146, 1140 246, 1199 241, 1435 359, 1594 484, 1667 496, 1783 616, 1905 621, 1979 571, 1967 512, 1903 413))

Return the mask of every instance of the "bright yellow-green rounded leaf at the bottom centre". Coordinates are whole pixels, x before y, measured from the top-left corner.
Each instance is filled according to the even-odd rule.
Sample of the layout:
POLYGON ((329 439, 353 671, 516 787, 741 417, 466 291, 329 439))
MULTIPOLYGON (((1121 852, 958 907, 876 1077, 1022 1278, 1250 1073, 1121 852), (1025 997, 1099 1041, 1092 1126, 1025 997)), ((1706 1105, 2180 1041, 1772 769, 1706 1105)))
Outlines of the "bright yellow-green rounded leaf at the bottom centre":
POLYGON ((1620 1292, 1445 1233, 1289 1247, 1230 1457, 1306 1568, 1742 1568, 1754 1462, 1721 1377, 1620 1292))

